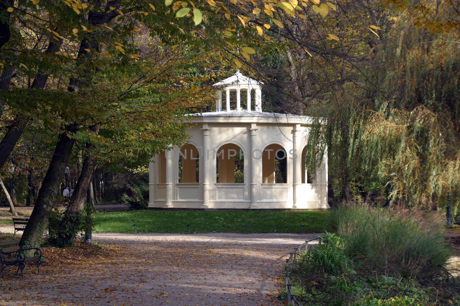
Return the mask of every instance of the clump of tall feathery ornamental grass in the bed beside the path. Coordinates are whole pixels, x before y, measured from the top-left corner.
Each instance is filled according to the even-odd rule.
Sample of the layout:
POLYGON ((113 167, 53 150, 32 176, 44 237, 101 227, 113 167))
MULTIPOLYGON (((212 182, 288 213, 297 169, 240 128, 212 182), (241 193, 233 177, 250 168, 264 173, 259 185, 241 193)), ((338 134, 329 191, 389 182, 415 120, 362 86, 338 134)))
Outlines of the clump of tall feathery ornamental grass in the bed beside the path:
POLYGON ((449 244, 435 212, 348 207, 333 215, 344 253, 380 271, 421 277, 445 267, 449 244))

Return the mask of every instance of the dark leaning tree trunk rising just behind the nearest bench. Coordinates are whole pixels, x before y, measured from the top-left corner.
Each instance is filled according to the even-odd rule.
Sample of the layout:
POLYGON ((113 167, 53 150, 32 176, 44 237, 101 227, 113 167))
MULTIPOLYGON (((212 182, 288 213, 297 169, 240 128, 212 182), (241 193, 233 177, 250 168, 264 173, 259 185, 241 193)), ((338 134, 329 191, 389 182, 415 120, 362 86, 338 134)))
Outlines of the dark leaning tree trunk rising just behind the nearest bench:
POLYGON ((50 166, 38 192, 34 210, 21 238, 20 245, 23 248, 40 246, 54 201, 59 195, 59 185, 64 177, 65 167, 75 143, 75 139, 69 138, 68 133, 73 135, 77 130, 77 124, 71 123, 59 135, 50 166))

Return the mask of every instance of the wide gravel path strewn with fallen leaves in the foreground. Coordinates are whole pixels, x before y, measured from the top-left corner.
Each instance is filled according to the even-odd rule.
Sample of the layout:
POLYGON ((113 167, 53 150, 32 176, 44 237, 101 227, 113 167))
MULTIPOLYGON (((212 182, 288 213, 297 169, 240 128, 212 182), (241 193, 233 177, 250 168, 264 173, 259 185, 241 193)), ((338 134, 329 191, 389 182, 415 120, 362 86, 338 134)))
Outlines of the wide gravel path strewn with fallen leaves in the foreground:
POLYGON ((317 236, 93 234, 95 241, 128 246, 126 258, 39 276, 28 266, 32 288, 23 289, 20 279, 11 285, 7 276, 0 305, 284 305, 277 298, 284 258, 317 236))

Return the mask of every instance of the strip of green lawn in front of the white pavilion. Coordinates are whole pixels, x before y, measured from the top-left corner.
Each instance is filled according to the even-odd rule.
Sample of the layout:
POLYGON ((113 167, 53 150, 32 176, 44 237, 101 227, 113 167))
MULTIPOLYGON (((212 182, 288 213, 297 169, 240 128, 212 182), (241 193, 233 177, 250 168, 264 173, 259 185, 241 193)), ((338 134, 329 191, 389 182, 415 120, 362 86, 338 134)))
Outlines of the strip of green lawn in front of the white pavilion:
POLYGON ((329 211, 197 211, 141 210, 93 215, 97 232, 190 233, 321 233, 330 230, 329 211))

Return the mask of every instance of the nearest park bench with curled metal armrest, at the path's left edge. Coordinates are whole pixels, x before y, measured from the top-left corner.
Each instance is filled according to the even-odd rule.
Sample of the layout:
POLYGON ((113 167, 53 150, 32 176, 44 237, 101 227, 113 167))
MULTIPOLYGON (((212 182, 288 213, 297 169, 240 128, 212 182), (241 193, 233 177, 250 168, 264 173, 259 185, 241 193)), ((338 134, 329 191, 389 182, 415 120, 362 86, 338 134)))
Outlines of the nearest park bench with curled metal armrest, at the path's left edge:
POLYGON ((0 249, 0 278, 3 270, 5 270, 7 266, 16 266, 16 274, 21 271, 21 276, 24 278, 23 269, 28 262, 34 262, 35 265, 37 265, 37 270, 40 274, 41 250, 39 248, 21 249, 17 244, 17 240, 1 241, 0 248, 1 247, 3 247, 3 249, 0 249), (34 256, 27 257, 26 253, 29 253, 30 250, 35 250, 34 256))

